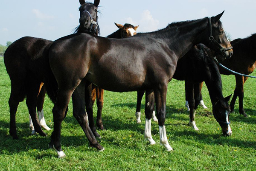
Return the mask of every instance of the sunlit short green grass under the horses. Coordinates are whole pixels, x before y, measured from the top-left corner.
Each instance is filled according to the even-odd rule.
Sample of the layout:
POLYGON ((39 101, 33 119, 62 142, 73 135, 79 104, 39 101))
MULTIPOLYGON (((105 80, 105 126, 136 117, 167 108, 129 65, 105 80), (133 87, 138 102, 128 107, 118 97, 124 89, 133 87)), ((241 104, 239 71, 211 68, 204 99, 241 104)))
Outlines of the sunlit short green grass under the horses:
MULTIPOLYGON (((255 75, 255 74, 252 74, 255 75)), ((159 144, 157 123, 152 122, 152 137, 156 145, 144 140, 145 98, 143 98, 142 123, 135 121, 137 93, 105 91, 102 119, 107 130, 99 130, 100 144, 105 151, 89 147, 87 138, 72 114, 70 102, 67 117, 62 123, 61 145, 67 157, 58 159, 53 149, 48 149, 52 130, 47 137, 30 135, 29 114, 25 101, 16 115, 19 140, 9 135, 9 95, 11 84, 0 58, 0 170, 3 171, 249 171, 256 170, 256 79, 248 78, 244 90, 244 108, 249 115, 239 115, 238 102, 230 115, 231 137, 224 137, 221 127, 212 116, 212 105, 207 87, 203 87, 204 102, 209 109, 197 110, 195 121, 200 131, 188 126, 184 81, 169 83, 166 104, 166 132, 174 149, 165 150, 159 144)), ((234 76, 222 76, 224 96, 233 93, 234 76)), ((45 119, 52 122, 53 104, 46 98, 45 119)), ((96 113, 96 106, 94 106, 96 113)))

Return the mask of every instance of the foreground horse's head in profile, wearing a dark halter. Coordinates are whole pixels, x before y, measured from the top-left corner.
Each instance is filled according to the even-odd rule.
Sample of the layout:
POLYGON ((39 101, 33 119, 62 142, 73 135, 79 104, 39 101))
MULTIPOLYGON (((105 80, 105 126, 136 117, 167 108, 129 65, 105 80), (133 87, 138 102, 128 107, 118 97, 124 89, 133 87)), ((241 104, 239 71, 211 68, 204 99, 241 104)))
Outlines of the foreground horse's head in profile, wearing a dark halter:
POLYGON ((220 21, 223 13, 224 11, 215 17, 209 18, 209 29, 206 29, 204 32, 204 34, 209 37, 205 45, 211 48, 214 56, 220 60, 229 59, 233 55, 232 46, 220 21))

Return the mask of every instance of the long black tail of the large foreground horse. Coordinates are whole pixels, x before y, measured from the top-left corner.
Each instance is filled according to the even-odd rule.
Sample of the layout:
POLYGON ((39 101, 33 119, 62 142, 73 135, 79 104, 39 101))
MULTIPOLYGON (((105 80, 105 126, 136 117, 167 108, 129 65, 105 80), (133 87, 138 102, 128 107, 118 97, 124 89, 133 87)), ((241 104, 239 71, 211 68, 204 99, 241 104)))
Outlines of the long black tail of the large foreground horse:
POLYGON ((46 87, 46 92, 51 101, 55 104, 56 98, 58 96, 58 83, 55 79, 55 76, 52 73, 52 69, 49 64, 49 48, 51 47, 52 43, 48 45, 44 50, 44 57, 45 57, 45 78, 44 84, 46 87))

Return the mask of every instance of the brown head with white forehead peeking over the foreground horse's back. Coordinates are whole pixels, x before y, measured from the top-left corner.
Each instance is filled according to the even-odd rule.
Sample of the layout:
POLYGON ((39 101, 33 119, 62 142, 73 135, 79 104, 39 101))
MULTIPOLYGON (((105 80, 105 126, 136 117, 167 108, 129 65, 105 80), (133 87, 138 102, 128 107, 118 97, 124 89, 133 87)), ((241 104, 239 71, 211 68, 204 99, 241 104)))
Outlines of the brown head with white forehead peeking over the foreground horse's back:
POLYGON ((134 27, 127 23, 125 25, 115 23, 115 25, 120 29, 122 39, 136 35, 136 30, 139 27, 139 25, 134 27))

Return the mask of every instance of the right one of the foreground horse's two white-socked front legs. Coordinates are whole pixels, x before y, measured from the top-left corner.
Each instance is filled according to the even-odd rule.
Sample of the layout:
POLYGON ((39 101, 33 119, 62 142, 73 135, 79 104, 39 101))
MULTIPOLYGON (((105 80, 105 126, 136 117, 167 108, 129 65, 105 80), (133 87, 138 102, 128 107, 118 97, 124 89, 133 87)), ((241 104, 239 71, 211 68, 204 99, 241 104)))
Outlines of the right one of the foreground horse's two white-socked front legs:
POLYGON ((166 136, 166 128, 164 125, 166 118, 166 93, 167 93, 167 84, 160 84, 154 89, 156 109, 157 109, 157 119, 159 126, 160 134, 160 145, 165 146, 167 151, 172 151, 172 147, 168 143, 166 136))

